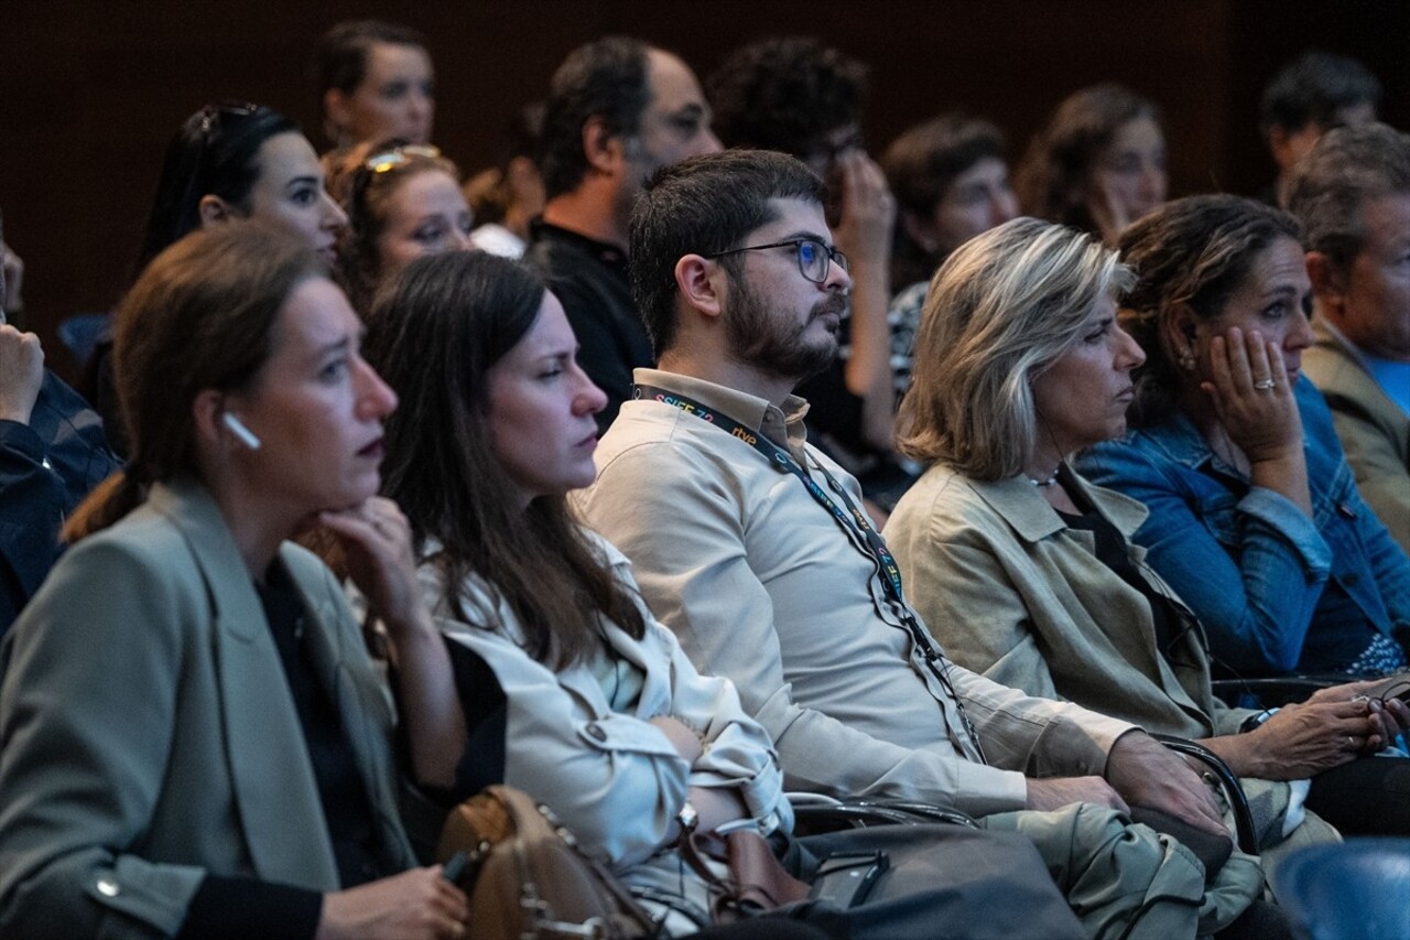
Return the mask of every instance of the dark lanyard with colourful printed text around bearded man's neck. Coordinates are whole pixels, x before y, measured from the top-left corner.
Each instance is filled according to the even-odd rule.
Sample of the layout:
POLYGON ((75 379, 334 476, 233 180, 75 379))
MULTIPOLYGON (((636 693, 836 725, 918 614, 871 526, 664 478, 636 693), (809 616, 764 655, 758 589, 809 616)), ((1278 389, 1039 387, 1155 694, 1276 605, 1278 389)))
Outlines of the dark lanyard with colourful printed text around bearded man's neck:
MULTIPOLYGON (((773 440, 768 440, 768 438, 763 433, 750 430, 746 425, 742 425, 729 415, 708 408, 687 395, 657 388, 654 385, 634 385, 632 395, 637 399, 653 399, 671 405, 688 415, 695 415, 706 423, 715 425, 732 438, 739 438, 750 447, 761 453, 764 459, 767 459, 768 463, 777 470, 790 473, 802 481, 804 488, 808 490, 814 501, 828 510, 838 525, 842 526, 843 532, 849 535, 857 532, 862 535, 867 546, 864 553, 880 566, 883 591, 895 603, 898 617, 911 634, 911 641, 924 653, 931 673, 940 682, 945 692, 949 693, 950 700, 955 703, 955 709, 964 721, 964 730, 969 733, 970 741, 974 744, 974 749, 979 752, 980 761, 987 762, 984 759, 984 748, 979 742, 979 731, 974 728, 974 723, 970 721, 969 714, 964 711, 964 703, 960 701, 959 694, 955 692, 955 686, 950 685, 950 676, 946 669, 945 658, 931 642, 929 632, 916 620, 911 607, 905 603, 905 593, 901 589, 901 569, 897 565, 895 558, 891 555, 891 549, 887 548, 885 539, 881 538, 881 534, 877 532, 876 526, 871 525, 871 521, 867 519, 866 512, 857 508, 842 484, 839 484, 838 480, 828 473, 828 469, 816 464, 816 470, 828 481, 828 487, 842 498, 843 505, 838 505, 836 501, 828 495, 826 490, 818 484, 812 474, 809 474, 802 466, 798 464, 797 460, 792 459, 792 454, 776 445, 773 440), (856 526, 856 529, 852 526, 856 526)), ((852 542, 852 538, 847 541, 852 542)), ((860 549, 860 546, 857 548, 860 549)))

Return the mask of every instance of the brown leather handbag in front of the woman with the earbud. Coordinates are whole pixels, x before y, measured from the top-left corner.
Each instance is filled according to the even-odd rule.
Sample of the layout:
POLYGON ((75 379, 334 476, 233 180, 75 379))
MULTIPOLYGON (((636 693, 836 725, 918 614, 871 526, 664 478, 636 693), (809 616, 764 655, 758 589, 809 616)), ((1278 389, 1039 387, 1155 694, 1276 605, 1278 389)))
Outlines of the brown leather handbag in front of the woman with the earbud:
POLYGON ((451 810, 436 857, 446 864, 457 852, 477 940, 664 936, 626 885, 522 790, 491 786, 451 810))

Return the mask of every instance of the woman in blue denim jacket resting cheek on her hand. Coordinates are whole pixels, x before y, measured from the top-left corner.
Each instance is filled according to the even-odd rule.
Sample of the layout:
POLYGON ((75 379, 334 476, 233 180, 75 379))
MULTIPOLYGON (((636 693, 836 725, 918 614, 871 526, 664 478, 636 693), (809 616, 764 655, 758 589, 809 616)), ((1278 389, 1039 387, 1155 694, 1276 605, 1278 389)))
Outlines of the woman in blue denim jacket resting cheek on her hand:
POLYGON ((1235 196, 1167 203, 1121 236, 1146 353, 1134 430, 1080 462, 1151 510, 1135 539, 1242 675, 1406 668, 1410 560, 1356 493, 1321 394, 1297 223, 1235 196))

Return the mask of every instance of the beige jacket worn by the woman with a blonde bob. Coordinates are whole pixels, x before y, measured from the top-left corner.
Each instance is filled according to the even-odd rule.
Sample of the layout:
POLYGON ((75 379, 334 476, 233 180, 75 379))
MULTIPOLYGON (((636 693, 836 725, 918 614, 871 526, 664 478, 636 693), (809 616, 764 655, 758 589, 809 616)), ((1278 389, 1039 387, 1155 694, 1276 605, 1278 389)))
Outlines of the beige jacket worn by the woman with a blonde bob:
MULTIPOLYGON (((1079 486, 1127 536, 1146 580, 1179 603, 1129 542, 1146 508, 1079 486)), ((1159 655, 1145 596, 1097 558, 1091 532, 1069 529, 1024 477, 981 483, 935 464, 901 497, 885 536, 911 604, 955 662, 994 682, 1187 738, 1234 733, 1251 714, 1211 693, 1197 625, 1169 659, 1159 655)))

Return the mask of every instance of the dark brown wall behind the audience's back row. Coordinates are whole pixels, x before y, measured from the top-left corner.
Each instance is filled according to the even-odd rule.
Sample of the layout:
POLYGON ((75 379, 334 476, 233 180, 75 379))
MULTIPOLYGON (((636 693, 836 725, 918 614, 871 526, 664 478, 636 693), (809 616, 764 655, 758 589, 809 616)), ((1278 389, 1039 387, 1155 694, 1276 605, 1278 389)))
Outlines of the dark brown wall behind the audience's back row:
POLYGON ((1173 195, 1268 182, 1258 96, 1313 45, 1366 62, 1386 85, 1386 120, 1410 127, 1404 0, 6 0, 0 207, 51 366, 70 371, 55 323, 121 295, 180 120, 206 100, 255 100, 321 145, 309 51, 364 16, 430 37, 436 140, 465 171, 492 162, 510 116, 571 48, 608 32, 675 49, 702 76, 742 42, 819 35, 871 65, 876 151, 962 107, 1004 127, 1017 155, 1069 92, 1127 82, 1165 110, 1173 195))

